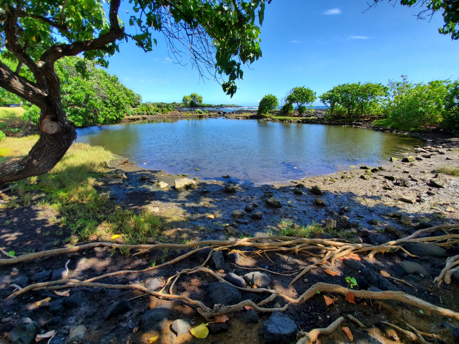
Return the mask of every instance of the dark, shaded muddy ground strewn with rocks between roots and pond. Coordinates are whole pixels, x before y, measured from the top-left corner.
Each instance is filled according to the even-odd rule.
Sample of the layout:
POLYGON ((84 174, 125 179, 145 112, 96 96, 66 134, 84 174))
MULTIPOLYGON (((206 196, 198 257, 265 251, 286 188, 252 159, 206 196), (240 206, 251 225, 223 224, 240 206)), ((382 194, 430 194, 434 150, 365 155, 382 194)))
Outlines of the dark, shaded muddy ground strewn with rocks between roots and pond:
MULTIPOLYGON (((113 201, 119 202, 126 208, 141 211, 146 207, 162 216, 167 222, 166 232, 169 237, 174 238, 175 242, 276 235, 285 229, 288 223, 294 226, 293 224, 316 222, 325 226, 325 219, 331 218, 336 220, 335 231, 317 234, 317 238, 353 239, 362 240, 367 244, 381 244, 397 239, 400 235, 414 233, 421 227, 459 223, 459 178, 441 173, 437 175, 435 172, 440 166, 458 166, 459 140, 427 139, 425 146, 431 148, 424 147, 427 152, 418 150, 419 153, 416 153, 416 149, 423 148, 412 147, 407 154, 422 160, 387 161, 384 169, 373 170, 374 172, 371 172, 371 168, 381 166, 369 166, 370 170, 356 166, 330 175, 267 185, 232 183, 229 172, 226 182, 198 180, 196 189, 186 191, 174 189, 175 179, 184 177, 170 175, 163 171, 145 170, 120 158, 112 163, 110 176, 100 181, 99 188, 101 192, 109 194, 113 201), (427 155, 430 155, 430 158, 425 157, 427 155), (122 179, 122 183, 111 183, 119 177, 120 173, 126 176, 122 179), (145 176, 143 179, 146 180, 142 180, 142 176, 145 176), (360 176, 365 176, 364 178, 367 179, 360 176), (397 185, 397 179, 400 178, 404 181, 399 180, 398 184, 405 186, 397 185), (430 182, 432 178, 439 178, 444 183, 444 187, 432 186, 430 182), (167 183, 168 186, 159 188, 159 182, 167 183), (232 186, 225 190, 227 185, 232 186), (311 192, 311 188, 316 185, 322 190, 322 195, 311 192), (227 189, 235 189, 235 192, 227 192, 227 189), (267 205, 266 200, 271 197, 279 200, 282 205, 279 208, 267 205), (413 201, 413 204, 401 200, 403 197, 409 202, 413 201), (317 198, 321 198, 324 205, 317 204, 317 198), (256 212, 261 213, 259 214, 261 219, 257 218, 260 217, 259 215, 252 217, 256 212), (401 215, 406 216, 400 218, 401 215), (401 220, 405 223, 402 224, 401 220), (385 230, 386 225, 396 226, 399 232, 396 234, 385 230)), ((193 178, 192 171, 182 173, 188 173, 189 178, 193 178)), ((14 250, 16 255, 62 247, 62 244, 56 245, 56 238, 63 239, 70 232, 68 228, 60 228, 56 225, 55 216, 52 209, 42 209, 36 204, 1 211, 0 247, 6 251, 14 250)), ((95 241, 97 239, 100 238, 95 238, 95 241)), ((252 250, 249 247, 237 249, 252 250)), ((436 250, 430 245, 416 244, 409 250, 418 257, 409 257, 397 251, 384 255, 377 254, 374 260, 369 260, 366 255, 361 254, 361 261, 337 260, 333 266, 326 263, 308 272, 305 278, 301 278, 291 287, 288 285, 294 276, 267 272, 270 277, 267 287, 296 298, 314 283, 335 283, 347 287, 345 277, 354 277, 358 283, 358 286, 354 287, 356 289, 404 291, 432 304, 458 312, 459 281, 453 279, 452 284, 443 284, 441 288, 432 283, 433 278, 444 267, 446 257, 459 254, 458 247, 450 247, 444 251, 436 250), (403 261, 419 264, 424 270, 419 270, 418 265, 416 265, 417 270, 403 270, 400 264, 403 261), (325 273, 324 269, 330 269, 338 275, 331 276, 325 273), (412 286, 383 277, 381 270, 390 273, 393 277, 403 278, 412 286)), ((302 269, 319 259, 314 255, 293 255, 274 251, 267 253, 267 256, 256 255, 247 260, 245 257, 249 256, 250 252, 240 252, 239 255, 229 250, 223 252, 224 261, 216 262, 211 258, 208 264, 209 268, 221 277, 226 277, 230 272, 234 272, 237 276, 244 276, 247 272, 256 271, 247 269, 257 267, 271 272, 287 273, 302 269), (230 255, 231 253, 233 254, 230 255)), ((183 253, 183 251, 170 250, 126 256, 108 247, 96 247, 14 266, 2 265, 0 266, 0 298, 5 300, 17 286, 24 287, 30 283, 57 279, 62 276, 64 265, 68 260, 70 261, 67 265, 69 269, 67 278, 86 280, 118 270, 145 269, 153 264, 159 265, 169 261, 183 253), (35 275, 37 272, 45 273, 35 275)), ((320 255, 320 252, 314 254, 320 255)), ((98 282, 124 285, 140 283, 147 288, 159 290, 168 277, 182 269, 199 266, 205 257, 207 255, 199 253, 174 265, 147 272, 106 277, 98 282)), ((194 300, 201 300, 212 307, 212 300, 215 299, 209 296, 209 291, 216 288, 215 284, 211 283, 217 281, 217 278, 204 272, 193 273, 181 277, 175 284, 173 292, 194 300)), ((249 284, 248 288, 254 287, 249 284)), ((73 341, 149 343, 149 339, 156 335, 159 335, 156 343, 263 343, 265 339, 276 343, 296 342, 294 338, 289 338, 287 335, 274 339, 269 336, 264 338, 263 331, 269 324, 264 322, 271 314, 260 312, 255 315, 250 314, 252 316, 250 317, 246 314, 249 311, 245 310, 226 314, 229 317, 227 325, 209 325, 211 334, 207 338, 194 338, 189 333, 177 336, 171 329, 171 324, 175 320, 190 319, 193 324, 198 325, 205 319, 196 312, 195 308, 181 302, 160 300, 147 295, 125 302, 141 294, 143 293, 136 290, 107 288, 70 289, 70 297, 59 296, 49 290, 29 292, 1 304, 0 333, 19 331, 13 329, 18 327, 20 319, 28 317, 38 325, 36 327, 29 325, 27 330, 21 327, 23 330, 20 332, 21 340, 26 338, 24 337, 26 334, 30 336, 36 332, 56 330, 55 338, 50 341, 54 344, 67 343, 68 340, 70 343, 73 341), (34 306, 34 302, 47 297, 51 298, 49 302, 34 306), (123 302, 118 303, 119 301, 123 302), (115 303, 118 307, 116 311, 106 313, 115 303), (152 314, 151 310, 157 311, 152 314), (107 314, 108 318, 105 319, 107 314), (161 325, 153 326, 152 323, 161 323, 161 325), (85 332, 82 330, 83 327, 77 327, 80 325, 85 328, 85 332), (72 338, 69 338, 69 331, 73 331, 70 335, 73 336, 72 338), (83 337, 80 336, 79 339, 78 336, 76 337, 78 331, 80 335, 83 331, 83 337)), ((227 301, 225 297, 229 294, 231 293, 221 292, 219 297, 222 302, 217 303, 227 301)), ((334 305, 325 305, 323 295, 318 294, 303 304, 289 306, 284 313, 293 324, 296 324, 297 330, 303 331, 326 327, 337 317, 351 314, 366 327, 359 328, 350 320, 345 320, 341 326, 350 327, 354 342, 360 344, 409 342, 400 332, 397 332, 398 337, 394 335, 394 331, 381 321, 392 322, 403 328, 407 328, 405 323, 408 323, 425 333, 439 335, 439 338, 432 341, 433 343, 459 342, 457 329, 459 322, 455 319, 437 316, 397 301, 356 300, 356 304, 351 304, 345 301, 342 295, 327 295, 336 298, 334 305), (367 305, 364 305, 364 302, 367 305)), ((240 297, 241 300, 259 301, 267 296, 269 296, 267 293, 242 291, 240 297)), ((285 302, 284 299, 277 297, 265 307, 281 307, 285 302)), ((285 328, 289 324, 292 325, 287 321, 285 328)), ((331 335, 321 336, 319 342, 348 343, 349 339, 341 330, 341 326, 331 335)), ((11 339, 7 334, 5 337, 0 339, 0 343, 8 343, 8 338, 11 339)))

